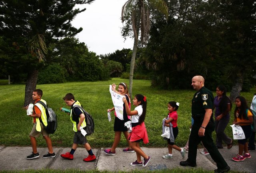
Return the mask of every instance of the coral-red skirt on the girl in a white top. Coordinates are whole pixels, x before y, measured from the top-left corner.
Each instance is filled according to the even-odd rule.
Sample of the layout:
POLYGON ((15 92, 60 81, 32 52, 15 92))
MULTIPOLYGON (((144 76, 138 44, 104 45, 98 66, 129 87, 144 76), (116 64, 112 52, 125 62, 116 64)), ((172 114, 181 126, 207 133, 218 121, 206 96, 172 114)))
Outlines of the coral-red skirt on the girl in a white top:
POLYGON ((128 136, 128 139, 131 142, 142 139, 143 143, 147 144, 149 141, 148 141, 148 133, 145 127, 145 123, 143 122, 140 125, 136 125, 135 127, 132 127, 132 132, 128 136))

